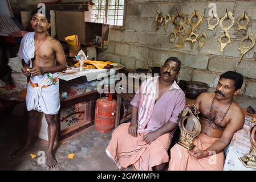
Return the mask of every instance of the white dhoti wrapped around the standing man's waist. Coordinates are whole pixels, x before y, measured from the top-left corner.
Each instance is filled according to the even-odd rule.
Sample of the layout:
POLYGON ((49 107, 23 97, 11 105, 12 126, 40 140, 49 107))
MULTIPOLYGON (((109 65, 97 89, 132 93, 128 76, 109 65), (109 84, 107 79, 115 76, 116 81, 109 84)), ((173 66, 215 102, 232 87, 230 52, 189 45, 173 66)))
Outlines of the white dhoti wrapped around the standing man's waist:
POLYGON ((57 74, 49 73, 56 81, 52 84, 46 74, 31 76, 27 84, 27 110, 36 110, 44 114, 57 114, 60 108, 59 81, 57 74))

